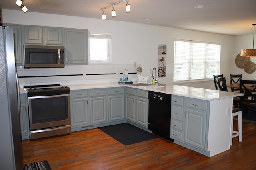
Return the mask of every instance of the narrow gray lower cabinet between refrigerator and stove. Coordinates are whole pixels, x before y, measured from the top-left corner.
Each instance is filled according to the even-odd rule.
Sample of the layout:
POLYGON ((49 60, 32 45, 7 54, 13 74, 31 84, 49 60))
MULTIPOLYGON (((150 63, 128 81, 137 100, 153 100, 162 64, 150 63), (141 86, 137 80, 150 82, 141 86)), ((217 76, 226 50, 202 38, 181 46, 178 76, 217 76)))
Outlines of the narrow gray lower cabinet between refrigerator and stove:
POLYGON ((20 133, 22 140, 29 139, 27 94, 20 94, 20 133))

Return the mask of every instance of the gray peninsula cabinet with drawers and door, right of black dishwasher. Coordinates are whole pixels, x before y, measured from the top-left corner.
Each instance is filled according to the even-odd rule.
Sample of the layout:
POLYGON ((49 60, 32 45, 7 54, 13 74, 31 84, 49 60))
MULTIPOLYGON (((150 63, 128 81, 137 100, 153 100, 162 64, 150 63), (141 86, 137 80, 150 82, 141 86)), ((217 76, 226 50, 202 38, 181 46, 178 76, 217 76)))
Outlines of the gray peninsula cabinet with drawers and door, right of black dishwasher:
POLYGON ((171 138, 207 150, 210 102, 172 95, 171 138))

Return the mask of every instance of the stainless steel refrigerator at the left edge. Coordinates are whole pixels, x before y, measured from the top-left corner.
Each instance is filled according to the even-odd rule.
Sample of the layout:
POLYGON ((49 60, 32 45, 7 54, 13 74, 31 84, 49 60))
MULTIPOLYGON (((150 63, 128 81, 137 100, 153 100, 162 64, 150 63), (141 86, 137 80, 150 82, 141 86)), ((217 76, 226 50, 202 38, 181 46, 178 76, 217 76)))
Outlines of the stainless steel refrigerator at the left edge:
POLYGON ((0 27, 0 169, 23 170, 13 30, 0 27))

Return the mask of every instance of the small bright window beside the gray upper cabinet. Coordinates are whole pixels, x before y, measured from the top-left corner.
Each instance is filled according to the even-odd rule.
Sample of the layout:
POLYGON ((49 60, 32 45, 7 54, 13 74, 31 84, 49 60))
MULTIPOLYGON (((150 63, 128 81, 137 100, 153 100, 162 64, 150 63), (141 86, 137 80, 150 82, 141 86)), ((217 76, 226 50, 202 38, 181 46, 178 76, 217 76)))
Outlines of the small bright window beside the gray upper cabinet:
POLYGON ((89 63, 111 62, 111 35, 89 33, 89 63))

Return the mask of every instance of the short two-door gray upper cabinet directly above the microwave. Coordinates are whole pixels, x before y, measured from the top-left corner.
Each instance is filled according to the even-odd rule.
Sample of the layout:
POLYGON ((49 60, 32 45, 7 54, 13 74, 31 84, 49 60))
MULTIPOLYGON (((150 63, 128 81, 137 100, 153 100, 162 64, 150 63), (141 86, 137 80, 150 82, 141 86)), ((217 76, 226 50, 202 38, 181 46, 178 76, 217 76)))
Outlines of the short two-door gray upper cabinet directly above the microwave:
POLYGON ((62 28, 24 26, 24 43, 38 45, 63 45, 62 28))

